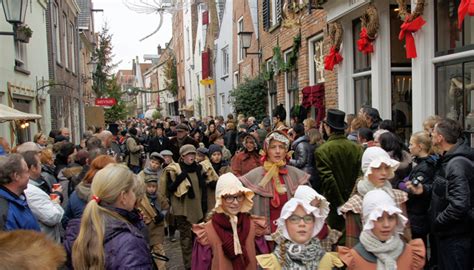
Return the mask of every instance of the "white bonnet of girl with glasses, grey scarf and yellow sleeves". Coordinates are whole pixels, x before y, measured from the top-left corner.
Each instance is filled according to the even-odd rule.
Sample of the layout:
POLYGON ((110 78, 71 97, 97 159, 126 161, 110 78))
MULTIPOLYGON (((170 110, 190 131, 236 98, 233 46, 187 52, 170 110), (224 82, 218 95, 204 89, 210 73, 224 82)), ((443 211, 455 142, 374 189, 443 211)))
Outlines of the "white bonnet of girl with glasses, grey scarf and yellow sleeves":
POLYGON ((286 239, 290 241, 291 238, 288 234, 285 221, 293 214, 293 212, 295 212, 298 205, 301 205, 301 207, 303 207, 306 214, 312 214, 314 216, 314 228, 311 237, 315 237, 321 231, 324 225, 324 220, 326 219, 326 216, 321 214, 319 208, 313 207, 309 203, 301 199, 291 198, 285 203, 285 205, 283 205, 280 217, 276 220, 278 230, 283 234, 286 239))

